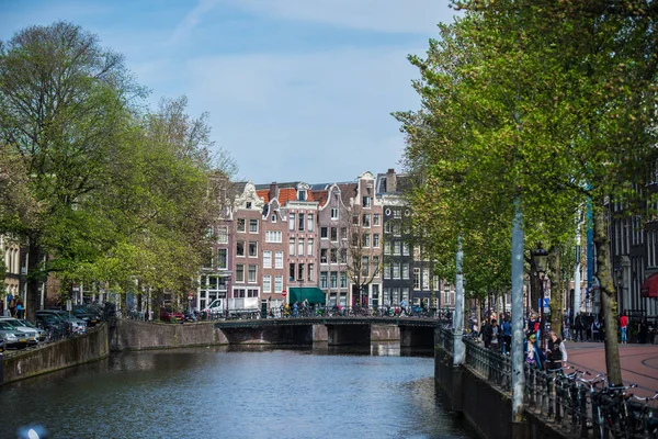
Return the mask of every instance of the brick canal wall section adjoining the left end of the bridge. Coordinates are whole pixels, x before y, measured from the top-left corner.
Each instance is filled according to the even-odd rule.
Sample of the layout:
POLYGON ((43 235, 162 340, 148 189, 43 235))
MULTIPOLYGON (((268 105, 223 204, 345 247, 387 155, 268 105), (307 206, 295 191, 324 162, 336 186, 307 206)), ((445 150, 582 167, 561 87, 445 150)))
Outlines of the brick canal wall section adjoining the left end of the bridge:
POLYGON ((212 322, 172 324, 120 319, 110 336, 113 351, 228 345, 212 322))

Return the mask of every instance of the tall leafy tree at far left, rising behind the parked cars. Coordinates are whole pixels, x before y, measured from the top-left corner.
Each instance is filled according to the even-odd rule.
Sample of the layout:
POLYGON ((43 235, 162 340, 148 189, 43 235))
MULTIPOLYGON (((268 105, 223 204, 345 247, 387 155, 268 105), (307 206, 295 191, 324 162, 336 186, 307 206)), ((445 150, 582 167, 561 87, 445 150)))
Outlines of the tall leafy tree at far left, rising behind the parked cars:
POLYGON ((27 27, 0 44, 2 167, 21 166, 26 194, 24 203, 3 205, 2 224, 29 249, 29 318, 45 271, 103 248, 104 232, 84 204, 107 182, 140 91, 122 56, 70 23, 27 27), (58 260, 39 267, 39 249, 58 260))

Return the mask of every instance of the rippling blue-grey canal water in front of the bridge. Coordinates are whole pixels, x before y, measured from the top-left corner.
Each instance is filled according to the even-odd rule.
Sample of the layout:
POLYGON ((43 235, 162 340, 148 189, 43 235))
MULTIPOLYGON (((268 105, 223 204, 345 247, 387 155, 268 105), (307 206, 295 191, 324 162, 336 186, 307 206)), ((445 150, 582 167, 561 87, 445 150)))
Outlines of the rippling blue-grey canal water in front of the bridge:
POLYGON ((399 347, 125 352, 1 387, 0 438, 470 438, 433 364, 399 347))

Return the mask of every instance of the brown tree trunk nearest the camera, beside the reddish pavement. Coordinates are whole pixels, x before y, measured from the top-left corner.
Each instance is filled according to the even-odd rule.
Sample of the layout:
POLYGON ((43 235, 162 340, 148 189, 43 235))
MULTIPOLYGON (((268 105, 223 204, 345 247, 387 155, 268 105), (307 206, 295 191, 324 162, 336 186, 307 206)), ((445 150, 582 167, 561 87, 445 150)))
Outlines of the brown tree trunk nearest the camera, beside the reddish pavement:
POLYGON ((594 246, 597 248, 597 278, 601 294, 601 311, 605 328, 605 369, 608 382, 622 384, 620 362, 620 345, 617 342, 617 305, 614 282, 612 281, 612 263, 610 260, 610 239, 605 226, 605 211, 601 205, 594 212, 594 246))

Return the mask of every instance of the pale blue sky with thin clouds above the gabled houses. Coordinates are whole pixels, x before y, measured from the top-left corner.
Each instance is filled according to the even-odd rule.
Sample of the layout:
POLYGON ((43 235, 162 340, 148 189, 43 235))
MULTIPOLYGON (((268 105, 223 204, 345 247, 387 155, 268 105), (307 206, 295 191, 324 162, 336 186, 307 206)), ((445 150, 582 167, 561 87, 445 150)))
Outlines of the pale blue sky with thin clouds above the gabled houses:
POLYGON ((68 21, 124 54, 149 104, 185 95, 239 180, 330 183, 401 170, 390 115, 418 110, 449 0, 0 0, 0 40, 68 21))

